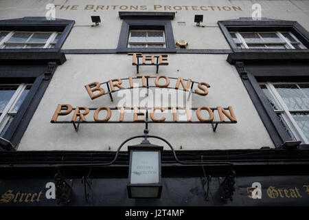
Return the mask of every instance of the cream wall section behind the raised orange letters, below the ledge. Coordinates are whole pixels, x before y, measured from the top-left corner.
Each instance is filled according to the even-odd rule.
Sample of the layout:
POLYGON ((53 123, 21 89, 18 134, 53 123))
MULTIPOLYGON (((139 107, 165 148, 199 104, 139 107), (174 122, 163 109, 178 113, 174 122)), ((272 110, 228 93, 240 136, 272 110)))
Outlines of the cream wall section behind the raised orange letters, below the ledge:
MULTIPOLYGON (((232 106, 238 123, 219 124, 216 132, 212 131, 210 124, 150 124, 151 135, 166 138, 177 150, 181 146, 183 150, 273 147, 236 69, 226 61, 227 55, 170 54, 168 56, 170 65, 160 67, 159 74, 209 83, 211 88, 207 96, 193 94, 193 106, 232 106)), ((141 67, 140 74, 157 76, 155 67, 141 67)), ((126 138, 143 134, 144 124, 81 124, 79 131, 76 132, 72 124, 50 123, 59 103, 68 103, 73 107, 115 107, 119 100, 116 98, 117 94, 113 94, 114 102, 111 102, 108 96, 91 100, 84 85, 93 81, 103 83, 109 79, 128 76, 137 76, 136 68, 131 65, 130 56, 67 54, 67 62, 58 67, 52 78, 23 135, 19 151, 106 151, 108 146, 111 147, 111 151, 115 151, 126 138)), ((59 116, 58 120, 71 120, 71 116, 72 114, 62 118, 59 116)), ((86 118, 93 120, 93 113, 86 115, 86 118)), ((133 119, 132 113, 130 118, 133 119)), ((216 118, 218 119, 218 116, 216 118)))

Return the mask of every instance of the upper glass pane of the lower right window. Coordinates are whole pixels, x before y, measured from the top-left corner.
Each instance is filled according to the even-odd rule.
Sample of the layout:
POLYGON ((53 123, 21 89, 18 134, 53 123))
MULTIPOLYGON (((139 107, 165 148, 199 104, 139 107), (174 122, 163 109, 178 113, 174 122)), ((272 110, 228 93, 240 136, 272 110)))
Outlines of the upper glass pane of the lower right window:
POLYGON ((274 85, 290 110, 309 109, 309 101, 296 85, 274 85))

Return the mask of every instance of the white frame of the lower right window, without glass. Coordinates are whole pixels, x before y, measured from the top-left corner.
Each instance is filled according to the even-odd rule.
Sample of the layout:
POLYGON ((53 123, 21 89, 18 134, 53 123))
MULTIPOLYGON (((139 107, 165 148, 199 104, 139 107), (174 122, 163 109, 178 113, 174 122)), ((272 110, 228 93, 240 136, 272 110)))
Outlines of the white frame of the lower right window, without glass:
POLYGON ((299 85, 301 85, 301 84, 308 85, 309 83, 285 83, 285 82, 283 82, 283 83, 270 83, 270 82, 266 82, 266 83, 259 83, 259 84, 266 86, 268 91, 271 93, 271 96, 273 96, 273 98, 275 99, 275 102, 277 102, 277 104, 279 105, 280 109, 274 110, 274 111, 275 111, 275 113, 282 115, 282 118, 284 119, 284 121, 288 125, 288 128, 293 133, 294 137, 297 140, 300 140, 302 142, 302 144, 309 144, 309 140, 306 138, 304 133, 301 131, 301 129, 297 125, 297 122, 294 120, 293 116, 291 115, 291 113, 309 113, 309 109, 296 109, 296 110, 288 109, 286 103, 284 102, 284 100, 281 98, 281 96, 277 92, 277 89, 274 87, 274 85, 296 85, 298 87, 298 89, 300 89, 302 94, 309 101, 309 97, 306 96, 304 91, 302 91, 301 88, 299 87, 299 85))

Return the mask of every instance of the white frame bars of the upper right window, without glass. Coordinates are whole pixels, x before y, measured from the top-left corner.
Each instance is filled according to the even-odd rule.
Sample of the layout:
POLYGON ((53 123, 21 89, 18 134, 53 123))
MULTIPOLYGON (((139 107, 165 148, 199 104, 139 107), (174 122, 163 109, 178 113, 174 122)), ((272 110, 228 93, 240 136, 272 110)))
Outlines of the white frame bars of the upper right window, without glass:
MULTIPOLYGON (((240 45, 240 47, 242 47, 242 49, 270 49, 267 47, 267 45, 284 45, 284 47, 286 47, 286 49, 295 49, 294 45, 299 45, 299 47, 301 47, 301 49, 307 49, 298 39, 297 37, 294 36, 294 34, 292 34, 291 32, 230 32, 233 34, 236 34, 236 37, 238 38, 238 40, 240 42, 235 42, 236 45, 240 45), (242 37, 242 33, 250 33, 250 34, 258 34, 258 36, 260 36, 260 33, 275 33, 277 34, 277 36, 279 37, 279 39, 281 39, 282 42, 270 42, 270 41, 264 41, 264 39, 262 38, 262 36, 260 36, 260 38, 262 39, 261 42, 246 42, 244 40, 244 38, 242 37), (290 34, 295 40, 295 43, 290 43, 290 41, 288 41, 288 39, 286 39, 286 37, 282 34, 282 33, 288 33, 290 34), (266 45, 266 47, 261 47, 261 48, 250 48, 248 45, 266 45)), ((273 49, 273 48, 271 48, 273 49)), ((273 49, 273 50, 280 50, 279 48, 277 49, 273 49)))

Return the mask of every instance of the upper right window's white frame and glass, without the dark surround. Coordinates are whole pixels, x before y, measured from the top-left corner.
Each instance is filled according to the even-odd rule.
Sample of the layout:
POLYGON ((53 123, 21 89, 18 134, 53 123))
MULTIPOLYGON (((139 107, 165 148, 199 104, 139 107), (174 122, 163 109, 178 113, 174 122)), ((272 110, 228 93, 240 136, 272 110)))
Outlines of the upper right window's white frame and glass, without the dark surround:
POLYGON ((230 32, 242 49, 306 49, 291 32, 230 32))

